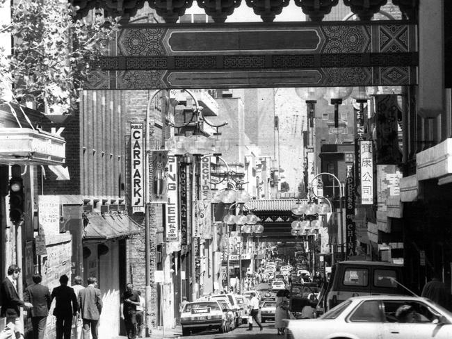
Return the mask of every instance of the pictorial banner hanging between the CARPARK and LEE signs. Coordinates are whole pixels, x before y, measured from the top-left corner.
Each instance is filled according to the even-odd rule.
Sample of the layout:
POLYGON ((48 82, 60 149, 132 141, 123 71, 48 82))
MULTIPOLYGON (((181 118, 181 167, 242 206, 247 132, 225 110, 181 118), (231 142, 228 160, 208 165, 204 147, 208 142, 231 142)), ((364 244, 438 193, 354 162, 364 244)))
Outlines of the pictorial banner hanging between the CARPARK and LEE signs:
POLYGON ((168 151, 154 150, 152 151, 152 203, 166 204, 166 201, 168 201, 168 183, 168 151))

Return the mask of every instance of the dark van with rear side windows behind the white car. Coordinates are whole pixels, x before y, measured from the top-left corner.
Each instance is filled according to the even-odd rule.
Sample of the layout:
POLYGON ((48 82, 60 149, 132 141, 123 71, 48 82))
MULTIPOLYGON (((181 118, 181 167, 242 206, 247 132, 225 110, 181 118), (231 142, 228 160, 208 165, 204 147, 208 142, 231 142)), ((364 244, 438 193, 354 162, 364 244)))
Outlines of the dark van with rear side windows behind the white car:
POLYGON ((316 313, 322 314, 350 297, 410 294, 400 285, 402 279, 403 265, 384 261, 341 261, 332 266, 330 281, 319 296, 316 313))

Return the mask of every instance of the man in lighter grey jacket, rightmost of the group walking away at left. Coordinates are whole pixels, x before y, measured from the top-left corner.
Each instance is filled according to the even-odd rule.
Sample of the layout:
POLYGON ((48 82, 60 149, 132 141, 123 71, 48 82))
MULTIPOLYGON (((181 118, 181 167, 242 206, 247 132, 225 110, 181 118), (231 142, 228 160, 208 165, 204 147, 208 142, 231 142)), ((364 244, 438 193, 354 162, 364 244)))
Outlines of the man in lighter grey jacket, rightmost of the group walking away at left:
POLYGON ((82 336, 83 339, 89 339, 91 331, 92 339, 97 339, 102 299, 99 288, 96 288, 96 277, 90 276, 87 281, 88 286, 80 290, 78 297, 80 316, 83 321, 82 336))

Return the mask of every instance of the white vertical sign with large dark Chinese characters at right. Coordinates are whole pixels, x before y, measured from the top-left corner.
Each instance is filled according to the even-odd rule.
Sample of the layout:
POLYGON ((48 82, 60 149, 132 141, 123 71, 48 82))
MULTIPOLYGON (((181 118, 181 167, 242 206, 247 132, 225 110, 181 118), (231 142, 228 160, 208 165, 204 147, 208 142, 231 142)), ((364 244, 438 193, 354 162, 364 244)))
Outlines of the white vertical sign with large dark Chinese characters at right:
POLYGON ((373 150, 371 141, 360 141, 361 204, 373 204, 373 150))

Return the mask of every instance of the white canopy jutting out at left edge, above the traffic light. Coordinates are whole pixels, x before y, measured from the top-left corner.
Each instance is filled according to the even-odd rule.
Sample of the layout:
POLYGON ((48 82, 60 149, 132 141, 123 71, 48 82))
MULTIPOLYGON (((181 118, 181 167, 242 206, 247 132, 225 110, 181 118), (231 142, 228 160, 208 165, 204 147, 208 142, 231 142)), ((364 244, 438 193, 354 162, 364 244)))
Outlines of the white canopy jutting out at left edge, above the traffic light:
MULTIPOLYGON (((62 129, 59 131, 61 133, 62 129)), ((41 129, 0 129, 0 163, 5 165, 63 165, 65 139, 41 129)))

